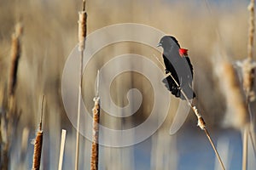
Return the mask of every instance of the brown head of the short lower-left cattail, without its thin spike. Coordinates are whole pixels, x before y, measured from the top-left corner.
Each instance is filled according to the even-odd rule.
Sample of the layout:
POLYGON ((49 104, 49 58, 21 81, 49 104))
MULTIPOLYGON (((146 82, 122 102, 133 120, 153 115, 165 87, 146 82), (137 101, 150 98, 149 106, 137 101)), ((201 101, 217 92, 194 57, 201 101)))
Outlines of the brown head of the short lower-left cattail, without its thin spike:
POLYGON ((34 156, 33 156, 33 165, 32 165, 33 170, 38 170, 40 168, 42 146, 43 146, 43 131, 38 131, 37 137, 35 139, 35 146, 34 146, 34 156))

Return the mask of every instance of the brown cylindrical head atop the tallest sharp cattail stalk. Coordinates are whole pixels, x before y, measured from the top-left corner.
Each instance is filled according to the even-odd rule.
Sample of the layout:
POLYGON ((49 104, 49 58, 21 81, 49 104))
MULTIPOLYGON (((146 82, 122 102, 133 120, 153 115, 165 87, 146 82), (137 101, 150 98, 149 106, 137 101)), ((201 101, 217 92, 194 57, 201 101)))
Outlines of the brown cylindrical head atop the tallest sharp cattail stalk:
POLYGON ((79 12, 79 51, 84 51, 86 37, 87 14, 85 11, 79 12))

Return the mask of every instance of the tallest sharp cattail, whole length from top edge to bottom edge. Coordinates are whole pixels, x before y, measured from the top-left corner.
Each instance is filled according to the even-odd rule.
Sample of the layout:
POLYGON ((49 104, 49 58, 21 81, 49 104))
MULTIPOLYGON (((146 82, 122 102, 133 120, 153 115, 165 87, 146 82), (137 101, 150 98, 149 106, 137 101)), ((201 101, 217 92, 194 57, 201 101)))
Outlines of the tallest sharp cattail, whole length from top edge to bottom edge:
POLYGON ((77 120, 77 138, 76 138, 76 156, 75 156, 75 170, 79 169, 79 129, 80 129, 80 106, 82 95, 82 75, 83 75, 83 58, 86 38, 86 22, 87 14, 85 12, 85 0, 83 0, 82 11, 79 12, 79 52, 80 52, 80 68, 79 68, 79 97, 78 97, 78 120, 77 120))

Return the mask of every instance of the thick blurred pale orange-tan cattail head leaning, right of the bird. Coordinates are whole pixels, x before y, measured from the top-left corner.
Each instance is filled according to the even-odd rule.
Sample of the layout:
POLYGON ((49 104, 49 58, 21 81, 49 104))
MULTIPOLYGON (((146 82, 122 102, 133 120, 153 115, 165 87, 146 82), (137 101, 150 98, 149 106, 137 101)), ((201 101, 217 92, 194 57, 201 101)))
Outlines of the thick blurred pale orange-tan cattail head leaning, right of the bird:
POLYGON ((227 102, 227 114, 224 122, 233 127, 241 128, 247 122, 247 109, 236 71, 233 65, 226 61, 223 61, 220 69, 220 85, 227 102))

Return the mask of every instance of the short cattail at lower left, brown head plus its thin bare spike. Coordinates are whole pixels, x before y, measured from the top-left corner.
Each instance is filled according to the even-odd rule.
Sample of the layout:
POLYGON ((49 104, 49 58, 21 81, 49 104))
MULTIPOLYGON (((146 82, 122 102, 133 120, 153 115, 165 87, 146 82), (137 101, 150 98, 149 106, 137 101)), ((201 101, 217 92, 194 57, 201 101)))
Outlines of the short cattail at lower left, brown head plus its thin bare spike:
POLYGON ((42 154, 42 146, 43 146, 43 130, 42 130, 42 119, 44 113, 44 95, 42 96, 42 104, 41 104, 41 118, 39 123, 39 130, 37 133, 37 137, 35 139, 35 146, 34 146, 34 156, 33 156, 33 170, 39 170, 40 168, 40 160, 42 154))

